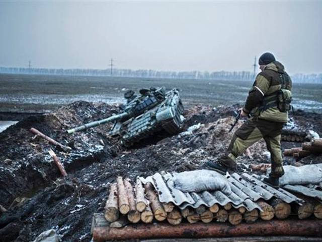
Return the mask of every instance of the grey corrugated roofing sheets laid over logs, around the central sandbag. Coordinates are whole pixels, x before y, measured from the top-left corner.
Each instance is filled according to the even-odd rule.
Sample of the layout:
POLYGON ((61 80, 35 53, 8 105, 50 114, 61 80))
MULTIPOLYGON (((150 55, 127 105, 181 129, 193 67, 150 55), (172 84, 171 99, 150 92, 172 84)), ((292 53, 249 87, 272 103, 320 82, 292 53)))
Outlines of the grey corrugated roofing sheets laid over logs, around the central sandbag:
POLYGON ((246 207, 248 210, 255 208, 261 210, 256 201, 259 199, 269 200, 273 197, 286 203, 295 202, 301 205, 304 202, 284 189, 274 189, 247 173, 241 175, 237 173, 227 174, 226 178, 232 191, 229 195, 221 191, 184 193, 175 188, 173 175, 168 172, 155 173, 146 178, 140 177, 144 184, 150 182, 154 186, 160 202, 172 202, 181 209, 187 206, 198 208, 200 205, 211 207, 214 204, 224 206, 231 203, 234 208, 246 207))

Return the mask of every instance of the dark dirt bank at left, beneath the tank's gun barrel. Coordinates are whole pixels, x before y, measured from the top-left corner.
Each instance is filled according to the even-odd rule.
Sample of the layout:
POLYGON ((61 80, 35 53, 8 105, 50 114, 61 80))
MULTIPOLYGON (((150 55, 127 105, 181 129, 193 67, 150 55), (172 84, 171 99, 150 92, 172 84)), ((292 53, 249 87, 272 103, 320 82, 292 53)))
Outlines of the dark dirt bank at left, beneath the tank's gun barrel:
POLYGON ((54 149, 67 171, 85 167, 95 159, 113 156, 113 140, 107 135, 109 125, 74 136, 67 135, 65 130, 90 120, 102 119, 117 110, 117 106, 105 103, 75 102, 49 114, 24 118, 0 133, 0 204, 8 207, 16 197, 59 176, 48 154, 49 148, 54 149), (30 128, 70 146, 72 151, 67 154, 59 147, 53 147, 30 133, 30 128), (108 144, 109 151, 103 151, 100 140, 108 144))

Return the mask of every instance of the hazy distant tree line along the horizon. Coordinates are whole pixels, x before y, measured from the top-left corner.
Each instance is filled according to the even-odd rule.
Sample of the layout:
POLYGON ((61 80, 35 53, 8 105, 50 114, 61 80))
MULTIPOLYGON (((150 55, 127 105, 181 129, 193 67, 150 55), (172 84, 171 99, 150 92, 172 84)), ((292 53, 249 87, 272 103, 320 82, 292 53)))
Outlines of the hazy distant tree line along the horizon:
MULTIPOLYGON (((138 77, 138 78, 171 78, 171 79, 206 79, 206 80, 233 80, 252 81, 251 72, 171 72, 155 70, 113 69, 46 69, 46 68, 10 68, 0 67, 0 73, 6 74, 31 74, 31 75, 69 75, 69 76, 113 76, 113 77, 138 77)), ((295 74, 293 82, 322 83, 322 74, 295 74)))

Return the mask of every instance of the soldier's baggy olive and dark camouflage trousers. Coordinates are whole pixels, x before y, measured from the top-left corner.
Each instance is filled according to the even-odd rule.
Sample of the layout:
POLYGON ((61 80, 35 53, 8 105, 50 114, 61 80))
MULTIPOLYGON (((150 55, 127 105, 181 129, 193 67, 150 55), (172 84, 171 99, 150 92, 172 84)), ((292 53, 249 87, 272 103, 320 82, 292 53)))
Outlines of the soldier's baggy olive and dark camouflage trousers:
POLYGON ((219 162, 229 168, 236 165, 236 157, 243 154, 248 147, 264 138, 267 149, 271 153, 272 171, 270 176, 280 177, 284 174, 281 153, 281 130, 284 123, 271 122, 253 117, 248 119, 233 135, 227 155, 219 158, 219 162))

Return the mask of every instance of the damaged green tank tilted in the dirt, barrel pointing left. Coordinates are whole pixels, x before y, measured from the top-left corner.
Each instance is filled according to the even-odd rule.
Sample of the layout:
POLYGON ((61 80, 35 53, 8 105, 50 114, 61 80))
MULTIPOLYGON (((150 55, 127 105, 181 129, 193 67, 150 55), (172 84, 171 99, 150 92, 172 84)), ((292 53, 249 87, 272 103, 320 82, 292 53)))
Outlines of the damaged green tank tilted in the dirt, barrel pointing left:
POLYGON ((114 122, 110 135, 120 137, 125 147, 133 146, 159 132, 177 134, 184 123, 184 107, 178 89, 166 92, 165 87, 125 92, 122 112, 70 130, 68 134, 114 122))

